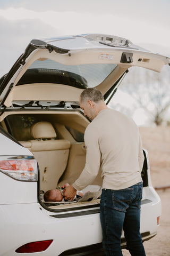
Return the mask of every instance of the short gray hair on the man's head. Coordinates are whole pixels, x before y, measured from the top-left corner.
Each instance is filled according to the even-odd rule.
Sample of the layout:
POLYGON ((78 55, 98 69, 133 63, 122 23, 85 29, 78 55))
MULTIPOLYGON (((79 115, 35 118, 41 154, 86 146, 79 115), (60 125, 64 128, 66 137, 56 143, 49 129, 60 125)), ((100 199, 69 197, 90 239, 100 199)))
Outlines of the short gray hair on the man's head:
POLYGON ((96 88, 88 88, 80 94, 80 101, 91 100, 94 102, 104 101, 103 94, 96 88))

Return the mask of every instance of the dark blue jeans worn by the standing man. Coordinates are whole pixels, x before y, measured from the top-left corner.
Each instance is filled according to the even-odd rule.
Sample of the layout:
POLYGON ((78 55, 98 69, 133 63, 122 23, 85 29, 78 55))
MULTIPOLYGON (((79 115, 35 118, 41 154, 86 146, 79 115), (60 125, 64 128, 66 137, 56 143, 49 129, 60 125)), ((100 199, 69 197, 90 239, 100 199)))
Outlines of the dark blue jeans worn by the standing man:
POLYGON ((107 256, 122 256, 122 229, 132 256, 146 256, 140 234, 142 182, 120 190, 103 189, 100 221, 107 256))

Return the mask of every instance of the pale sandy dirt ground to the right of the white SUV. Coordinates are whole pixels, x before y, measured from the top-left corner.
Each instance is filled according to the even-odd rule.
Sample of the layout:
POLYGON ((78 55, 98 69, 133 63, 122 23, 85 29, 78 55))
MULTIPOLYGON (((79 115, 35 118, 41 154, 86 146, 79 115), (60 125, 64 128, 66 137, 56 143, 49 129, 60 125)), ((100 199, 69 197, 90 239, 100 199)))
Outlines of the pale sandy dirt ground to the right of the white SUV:
MULTIPOLYGON (((170 126, 140 127, 140 134, 143 148, 149 154, 153 187, 170 187, 170 126)), ((147 256, 170 256, 170 188, 156 191, 162 200, 160 226, 158 234, 143 245, 147 256)), ((129 255, 123 250, 123 256, 129 255)))

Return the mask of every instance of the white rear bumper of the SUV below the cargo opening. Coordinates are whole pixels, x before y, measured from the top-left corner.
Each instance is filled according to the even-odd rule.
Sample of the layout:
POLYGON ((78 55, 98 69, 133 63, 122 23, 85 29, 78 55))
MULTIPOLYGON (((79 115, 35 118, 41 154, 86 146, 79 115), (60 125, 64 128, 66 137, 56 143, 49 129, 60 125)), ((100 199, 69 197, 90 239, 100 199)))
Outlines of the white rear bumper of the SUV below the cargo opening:
MULTIPOLYGON (((161 202, 156 191, 153 188, 145 190, 147 191, 141 205, 142 241, 157 234, 157 217, 161 215, 161 202)), ((18 255, 15 253, 18 247, 49 239, 53 239, 53 243, 45 252, 39 252, 38 255, 104 255, 99 205, 96 209, 86 211, 73 208, 67 213, 55 211, 55 215, 53 216, 52 211, 44 209, 38 203, 0 205, 0 229, 3 234, 0 241, 0 255, 18 255)), ((121 246, 126 247, 123 233, 121 246)), ((29 255, 31 256, 32 253, 29 255)))

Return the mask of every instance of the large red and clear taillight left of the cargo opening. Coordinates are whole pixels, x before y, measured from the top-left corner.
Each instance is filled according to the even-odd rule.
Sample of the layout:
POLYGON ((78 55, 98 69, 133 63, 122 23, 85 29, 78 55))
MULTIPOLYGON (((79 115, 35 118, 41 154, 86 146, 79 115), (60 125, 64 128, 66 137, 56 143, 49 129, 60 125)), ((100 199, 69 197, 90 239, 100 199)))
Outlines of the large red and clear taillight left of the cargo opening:
POLYGON ((0 171, 17 180, 37 181, 37 162, 33 156, 1 156, 0 171))

